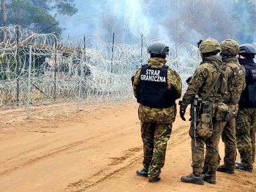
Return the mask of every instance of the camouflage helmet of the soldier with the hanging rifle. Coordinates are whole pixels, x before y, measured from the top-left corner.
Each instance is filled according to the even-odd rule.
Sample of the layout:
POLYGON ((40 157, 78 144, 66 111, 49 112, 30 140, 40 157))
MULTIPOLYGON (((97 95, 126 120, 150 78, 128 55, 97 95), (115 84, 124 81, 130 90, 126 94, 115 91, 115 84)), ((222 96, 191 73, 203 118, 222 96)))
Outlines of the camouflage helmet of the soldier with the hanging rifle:
POLYGON ((205 52, 214 52, 214 51, 221 51, 220 44, 217 40, 213 38, 207 38, 205 40, 202 40, 202 42, 199 45, 199 51, 202 53, 205 52))

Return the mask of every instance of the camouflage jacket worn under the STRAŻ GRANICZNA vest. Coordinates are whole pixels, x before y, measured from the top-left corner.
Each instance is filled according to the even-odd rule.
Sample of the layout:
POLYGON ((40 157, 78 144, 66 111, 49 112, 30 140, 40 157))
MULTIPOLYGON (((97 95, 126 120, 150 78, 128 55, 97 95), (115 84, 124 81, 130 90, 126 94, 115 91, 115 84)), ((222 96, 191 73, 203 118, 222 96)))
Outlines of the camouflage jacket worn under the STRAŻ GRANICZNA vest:
MULTIPOLYGON (((163 65, 166 63, 166 60, 164 58, 149 58, 148 59, 148 65, 150 65, 152 68, 156 67, 163 67, 163 65)), ((133 81, 133 93, 134 97, 137 98, 136 92, 139 88, 140 84, 140 71, 141 68, 139 68, 136 73, 134 74, 134 81, 133 81)), ((182 92, 182 81, 173 68, 168 68, 167 71, 167 86, 168 88, 172 88, 175 90, 176 93, 176 99, 179 99, 181 97, 182 92)), ((139 108, 139 118, 141 121, 146 122, 147 120, 156 120, 156 122, 162 122, 163 124, 173 122, 175 120, 176 116, 176 106, 172 106, 170 108, 150 108, 148 106, 143 106, 140 104, 139 108)))

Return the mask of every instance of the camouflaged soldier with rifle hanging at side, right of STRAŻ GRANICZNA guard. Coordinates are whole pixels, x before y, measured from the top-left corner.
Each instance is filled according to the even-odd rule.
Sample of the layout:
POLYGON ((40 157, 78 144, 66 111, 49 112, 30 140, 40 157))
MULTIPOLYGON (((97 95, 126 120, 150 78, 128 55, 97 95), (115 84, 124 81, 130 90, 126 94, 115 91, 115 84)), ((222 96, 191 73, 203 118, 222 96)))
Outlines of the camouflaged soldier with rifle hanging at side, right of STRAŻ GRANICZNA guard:
POLYGON ((182 176, 180 180, 200 185, 204 184, 204 180, 216 184, 216 168, 219 163, 218 144, 224 126, 221 122, 223 120, 221 95, 227 91, 227 82, 221 57, 217 55, 221 51, 218 41, 213 38, 200 40, 198 49, 202 63, 196 68, 188 82, 188 89, 179 103, 180 118, 184 121, 186 121, 184 118, 186 108, 191 104, 189 136, 193 172, 182 176), (217 113, 218 103, 220 110, 217 113), (208 163, 208 167, 203 173, 204 162, 208 163))

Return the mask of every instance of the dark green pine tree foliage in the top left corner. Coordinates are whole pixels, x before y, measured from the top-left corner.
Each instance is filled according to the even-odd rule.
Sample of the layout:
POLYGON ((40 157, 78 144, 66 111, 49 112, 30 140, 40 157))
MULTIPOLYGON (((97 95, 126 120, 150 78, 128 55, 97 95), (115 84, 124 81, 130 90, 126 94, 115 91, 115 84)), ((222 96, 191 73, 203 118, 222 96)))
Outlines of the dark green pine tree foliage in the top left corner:
POLYGON ((63 28, 58 27, 56 15, 52 16, 52 12, 61 15, 72 16, 76 14, 75 0, 1 0, 2 17, 1 26, 19 25, 23 28, 31 29, 38 33, 52 33, 56 31, 60 33, 63 28), (4 9, 6 8, 6 10, 4 9), (7 14, 4 14, 7 13, 7 14), (52 26, 52 28, 49 28, 52 26), (47 29, 49 28, 49 29, 47 29), (46 29, 46 30, 44 30, 46 29))

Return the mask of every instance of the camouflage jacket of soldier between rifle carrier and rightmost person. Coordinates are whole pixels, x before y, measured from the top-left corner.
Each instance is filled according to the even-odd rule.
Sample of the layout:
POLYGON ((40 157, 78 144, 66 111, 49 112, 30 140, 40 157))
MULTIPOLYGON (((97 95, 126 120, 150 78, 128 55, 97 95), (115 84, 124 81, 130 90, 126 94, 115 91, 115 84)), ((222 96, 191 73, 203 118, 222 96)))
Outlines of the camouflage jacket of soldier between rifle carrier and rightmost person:
POLYGON ((227 94, 223 95, 223 102, 236 105, 246 86, 244 67, 238 63, 236 56, 223 60, 223 66, 228 76, 227 94))

